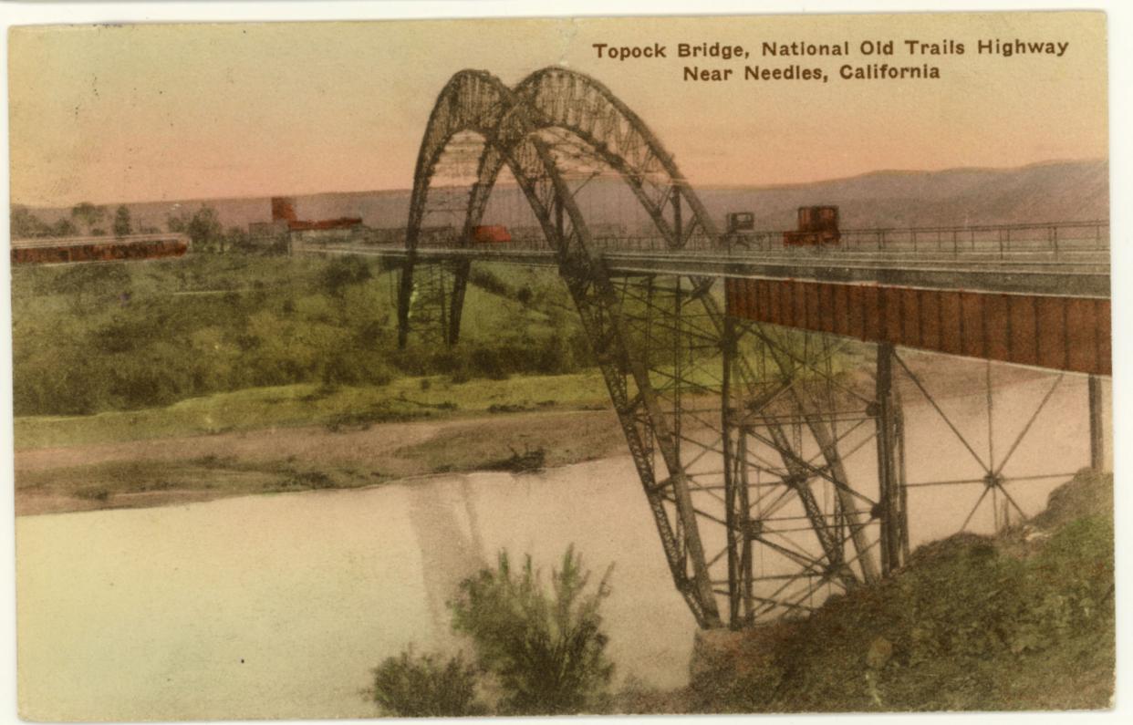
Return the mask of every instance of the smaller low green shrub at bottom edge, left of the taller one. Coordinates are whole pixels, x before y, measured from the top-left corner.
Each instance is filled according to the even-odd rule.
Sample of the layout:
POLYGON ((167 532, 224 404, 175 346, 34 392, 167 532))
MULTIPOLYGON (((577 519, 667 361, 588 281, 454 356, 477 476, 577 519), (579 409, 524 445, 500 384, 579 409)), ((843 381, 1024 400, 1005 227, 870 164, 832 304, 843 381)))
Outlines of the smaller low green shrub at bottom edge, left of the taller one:
POLYGON ((394 717, 485 715, 476 700, 476 668, 457 655, 442 664, 435 655, 415 656, 412 648, 387 657, 374 669, 374 701, 394 717))

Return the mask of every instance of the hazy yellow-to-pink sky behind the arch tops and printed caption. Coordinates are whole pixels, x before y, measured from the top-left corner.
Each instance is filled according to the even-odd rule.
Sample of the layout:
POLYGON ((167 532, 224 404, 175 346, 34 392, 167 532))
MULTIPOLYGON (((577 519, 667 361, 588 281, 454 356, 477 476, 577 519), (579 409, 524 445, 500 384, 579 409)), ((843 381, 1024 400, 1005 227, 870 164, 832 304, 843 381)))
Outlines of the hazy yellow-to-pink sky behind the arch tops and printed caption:
POLYGON ((1107 155, 1102 14, 56 26, 10 35, 12 201, 404 188, 453 72, 513 84, 551 65, 605 83, 693 186, 1107 155), (1062 57, 977 52, 1016 39, 1067 45, 1062 57), (910 56, 905 40, 965 52, 910 56), (676 57, 678 43, 717 41, 750 57, 676 57), (843 41, 846 58, 760 52, 843 41), (895 54, 864 57, 862 41, 893 41, 895 54), (594 43, 659 43, 668 57, 599 59, 594 43), (881 62, 927 62, 940 78, 838 77, 845 63, 881 62), (693 65, 733 79, 687 82, 693 65), (743 80, 744 65, 817 67, 829 80, 743 80))

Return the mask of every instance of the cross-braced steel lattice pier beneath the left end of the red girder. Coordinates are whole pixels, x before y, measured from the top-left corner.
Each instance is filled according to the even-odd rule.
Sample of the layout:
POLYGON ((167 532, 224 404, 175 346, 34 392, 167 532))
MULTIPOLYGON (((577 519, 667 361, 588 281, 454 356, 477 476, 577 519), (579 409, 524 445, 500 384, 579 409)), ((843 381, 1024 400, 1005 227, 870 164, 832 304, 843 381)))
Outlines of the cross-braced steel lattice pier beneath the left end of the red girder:
MULTIPOLYGON (((723 330, 729 613, 743 626, 806 614, 883 573, 874 551, 880 498, 846 467, 878 416, 868 409, 872 391, 838 373, 847 341, 732 315, 723 330)), ((897 479, 898 410, 891 404, 887 418, 897 479)), ((892 505, 903 510, 900 487, 892 505)))

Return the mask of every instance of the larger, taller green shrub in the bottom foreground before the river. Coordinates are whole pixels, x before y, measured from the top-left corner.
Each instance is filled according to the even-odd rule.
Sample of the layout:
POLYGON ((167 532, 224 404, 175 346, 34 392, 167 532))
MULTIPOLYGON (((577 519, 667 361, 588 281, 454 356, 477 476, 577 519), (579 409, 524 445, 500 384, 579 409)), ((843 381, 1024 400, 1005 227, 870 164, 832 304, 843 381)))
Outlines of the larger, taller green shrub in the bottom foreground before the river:
POLYGON ((551 575, 547 592, 530 556, 513 572, 506 553, 495 570, 466 579, 450 604, 452 626, 471 637, 482 668, 493 673, 504 714, 548 715, 602 707, 613 665, 598 607, 610 571, 586 594, 589 572, 573 547, 551 575))

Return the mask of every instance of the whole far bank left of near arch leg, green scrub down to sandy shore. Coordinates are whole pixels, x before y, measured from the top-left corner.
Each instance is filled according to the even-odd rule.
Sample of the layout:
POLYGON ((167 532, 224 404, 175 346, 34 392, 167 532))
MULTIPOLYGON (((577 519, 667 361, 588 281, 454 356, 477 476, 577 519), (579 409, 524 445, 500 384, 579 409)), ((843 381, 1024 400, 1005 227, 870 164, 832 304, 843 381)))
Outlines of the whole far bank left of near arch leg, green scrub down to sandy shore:
POLYGON ((40 460, 17 477, 23 512, 536 470, 607 454, 619 440, 612 418, 501 417, 500 435, 442 427, 391 444, 390 466, 355 451, 317 470, 270 445, 288 427, 320 426, 312 435, 337 446, 335 434, 384 423, 606 409, 605 383, 551 272, 478 270, 454 350, 398 350, 397 276, 358 258, 194 253, 12 272, 18 451, 252 430, 265 430, 273 451, 248 458, 229 436, 138 443, 113 454, 128 464, 97 450, 40 460), (219 460, 203 462, 211 453, 219 460))

